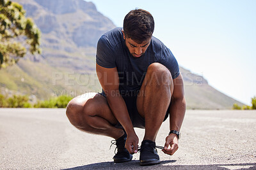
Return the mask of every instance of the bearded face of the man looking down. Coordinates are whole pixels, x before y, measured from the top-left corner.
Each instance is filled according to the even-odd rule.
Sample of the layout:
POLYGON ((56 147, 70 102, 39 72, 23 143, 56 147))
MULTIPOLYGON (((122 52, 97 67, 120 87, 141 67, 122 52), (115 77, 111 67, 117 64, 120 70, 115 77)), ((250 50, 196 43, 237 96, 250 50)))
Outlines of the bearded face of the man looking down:
POLYGON ((151 41, 151 38, 150 38, 146 41, 143 41, 141 44, 138 44, 135 41, 133 41, 131 38, 128 38, 127 36, 125 37, 125 34, 124 34, 124 39, 125 39, 125 45, 129 49, 129 52, 133 57, 141 57, 141 55, 143 55, 146 52, 151 41))

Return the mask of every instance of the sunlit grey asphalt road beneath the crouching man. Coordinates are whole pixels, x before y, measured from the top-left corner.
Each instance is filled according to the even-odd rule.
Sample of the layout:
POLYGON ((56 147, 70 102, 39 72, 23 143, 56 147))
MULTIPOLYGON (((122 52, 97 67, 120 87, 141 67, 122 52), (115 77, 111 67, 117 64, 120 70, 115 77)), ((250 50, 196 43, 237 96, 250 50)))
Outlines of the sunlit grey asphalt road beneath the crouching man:
MULTIPOLYGON (((168 120, 156 144, 164 145, 168 120)), ((141 139, 143 129, 136 129, 141 139)), ((114 164, 111 138, 77 130, 65 109, 0 109, 0 169, 256 169, 256 111, 188 110, 179 150, 161 164, 114 164)))

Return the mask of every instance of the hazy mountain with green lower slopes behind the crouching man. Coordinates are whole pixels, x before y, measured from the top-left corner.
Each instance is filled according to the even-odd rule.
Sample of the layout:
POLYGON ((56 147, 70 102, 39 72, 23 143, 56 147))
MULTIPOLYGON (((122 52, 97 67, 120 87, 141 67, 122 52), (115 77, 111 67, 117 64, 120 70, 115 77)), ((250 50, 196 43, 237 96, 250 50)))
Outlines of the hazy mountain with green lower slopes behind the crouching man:
MULTIPOLYGON (((83 0, 15 0, 24 6, 42 32, 42 55, 28 54, 0 70, 4 94, 33 94, 33 98, 78 96, 99 92, 95 74, 97 41, 115 25, 95 5, 83 0)), ((180 67, 190 109, 230 109, 239 103, 218 92, 197 74, 180 67)))

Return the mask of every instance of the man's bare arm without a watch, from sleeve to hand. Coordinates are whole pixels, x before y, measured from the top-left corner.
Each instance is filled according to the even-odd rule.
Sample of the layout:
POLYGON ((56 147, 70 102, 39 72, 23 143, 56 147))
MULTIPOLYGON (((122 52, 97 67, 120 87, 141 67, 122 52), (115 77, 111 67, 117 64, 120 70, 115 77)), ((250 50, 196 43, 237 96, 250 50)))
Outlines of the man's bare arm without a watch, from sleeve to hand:
POLYGON ((134 131, 124 99, 119 93, 119 78, 117 69, 116 67, 105 68, 96 64, 96 71, 100 85, 106 94, 109 108, 127 133, 125 148, 127 148, 131 154, 136 153, 138 151, 139 139, 134 131), (132 148, 132 146, 134 148, 132 148))

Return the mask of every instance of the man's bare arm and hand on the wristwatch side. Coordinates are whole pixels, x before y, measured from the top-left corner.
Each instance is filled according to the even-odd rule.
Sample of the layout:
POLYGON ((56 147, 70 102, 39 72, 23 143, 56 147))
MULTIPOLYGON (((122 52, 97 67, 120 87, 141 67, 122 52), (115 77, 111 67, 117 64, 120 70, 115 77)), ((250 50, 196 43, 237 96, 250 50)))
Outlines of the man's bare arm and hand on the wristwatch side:
MULTIPOLYGON (((184 83, 181 73, 173 80, 173 94, 170 107, 170 131, 180 131, 186 112, 186 99, 184 96, 184 83)), ((179 141, 176 134, 169 134, 166 137, 164 153, 173 155, 179 148, 179 141), (170 145, 170 149, 168 146, 170 145)))

